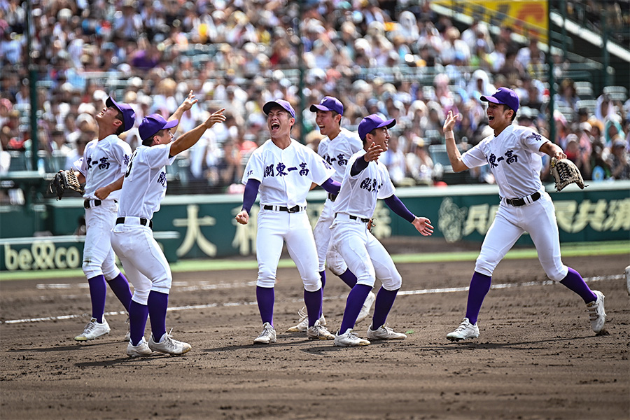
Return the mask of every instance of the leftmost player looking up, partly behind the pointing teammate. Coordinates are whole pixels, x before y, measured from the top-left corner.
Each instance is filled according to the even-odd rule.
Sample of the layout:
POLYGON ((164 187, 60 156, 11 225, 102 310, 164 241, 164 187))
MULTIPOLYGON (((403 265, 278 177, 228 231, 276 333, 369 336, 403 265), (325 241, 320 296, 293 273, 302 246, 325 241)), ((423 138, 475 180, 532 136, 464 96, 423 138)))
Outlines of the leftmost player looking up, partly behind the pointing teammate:
POLYGON ((90 286, 92 318, 83 332, 74 337, 86 341, 109 334, 109 324, 104 318, 106 283, 129 311, 131 290, 129 282, 116 267, 109 241, 109 232, 116 221, 120 185, 131 155, 131 147, 120 134, 134 126, 136 114, 131 106, 118 104, 109 97, 106 107, 96 116, 99 125, 98 138, 85 146, 83 158, 77 160, 71 170, 78 172, 78 180, 85 182, 83 207, 85 207, 85 244, 83 246, 83 273, 90 286), (109 191, 113 191, 109 193, 109 191))

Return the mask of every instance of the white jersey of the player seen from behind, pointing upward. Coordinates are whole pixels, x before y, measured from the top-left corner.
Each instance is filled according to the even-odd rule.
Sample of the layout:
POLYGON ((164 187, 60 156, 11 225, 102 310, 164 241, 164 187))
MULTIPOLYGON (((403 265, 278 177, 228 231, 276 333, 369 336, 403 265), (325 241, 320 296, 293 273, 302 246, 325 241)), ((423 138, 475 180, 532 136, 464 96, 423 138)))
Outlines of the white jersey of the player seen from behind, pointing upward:
POLYGON ((170 144, 139 146, 134 151, 120 194, 119 217, 151 219, 160 209, 167 189, 166 165, 175 160, 170 151, 170 144))

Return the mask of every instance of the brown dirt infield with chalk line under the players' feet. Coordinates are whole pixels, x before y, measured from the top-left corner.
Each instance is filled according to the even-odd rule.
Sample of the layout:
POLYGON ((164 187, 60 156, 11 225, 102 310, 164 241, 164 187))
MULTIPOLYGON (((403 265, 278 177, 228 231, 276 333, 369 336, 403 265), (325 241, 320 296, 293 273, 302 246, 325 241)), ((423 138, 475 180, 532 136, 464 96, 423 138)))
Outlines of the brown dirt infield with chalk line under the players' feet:
MULTIPOLYGON (((193 350, 143 359, 125 354, 123 314, 108 316, 109 336, 73 341, 90 311, 85 279, 3 281, 0 417, 628 419, 628 256, 564 262, 606 295, 608 335, 594 335, 577 295, 544 283, 537 260, 500 263, 481 335, 463 343, 444 337, 463 317, 466 292, 447 289, 468 286, 474 263, 399 264, 403 293, 388 324, 407 339, 352 349, 283 332, 302 307, 295 268, 279 270, 278 342, 269 346, 252 344, 261 329, 255 270, 175 273, 167 327, 193 350)), ((347 292, 328 273, 330 330, 339 328, 347 292)), ((120 309, 109 293, 106 311, 120 309)), ((368 325, 357 326, 359 335, 368 325)))

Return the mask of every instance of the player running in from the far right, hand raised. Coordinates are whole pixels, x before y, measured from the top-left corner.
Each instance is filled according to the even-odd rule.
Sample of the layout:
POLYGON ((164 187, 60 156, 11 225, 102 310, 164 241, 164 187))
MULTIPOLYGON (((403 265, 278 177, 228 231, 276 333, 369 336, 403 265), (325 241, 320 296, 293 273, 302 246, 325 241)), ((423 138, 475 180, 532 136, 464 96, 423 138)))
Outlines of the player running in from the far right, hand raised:
POLYGON ((582 297, 587 304, 591 328, 600 332, 604 326, 604 295, 591 290, 574 269, 563 265, 556 215, 551 197, 540 182, 540 156, 566 158, 562 149, 528 127, 513 124, 519 109, 519 97, 500 87, 488 102, 486 113, 494 135, 486 137, 460 155, 455 146, 453 127, 457 116, 452 112, 444 121, 449 160, 455 172, 489 165, 499 187, 500 205, 482 244, 468 290, 466 316, 461 325, 449 332, 447 339, 460 341, 479 337, 477 317, 490 289, 492 273, 507 251, 524 232, 529 232, 538 251, 538 260, 554 281, 582 297))

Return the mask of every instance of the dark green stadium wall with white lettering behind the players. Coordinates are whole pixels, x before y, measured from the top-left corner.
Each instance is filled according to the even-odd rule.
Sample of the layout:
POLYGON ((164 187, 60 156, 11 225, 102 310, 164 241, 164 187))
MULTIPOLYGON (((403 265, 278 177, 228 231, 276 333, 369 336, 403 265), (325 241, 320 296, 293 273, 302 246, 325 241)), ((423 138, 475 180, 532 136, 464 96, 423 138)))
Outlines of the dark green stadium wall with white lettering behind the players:
MULTIPOLYGON (((547 187, 556 207, 560 240, 566 242, 629 241, 630 181, 594 183, 563 192, 547 187)), ((399 188, 397 195, 409 210, 430 218, 434 237, 447 242, 480 242, 498 207, 496 186, 399 188)), ((325 192, 309 193, 311 223, 317 221, 325 192)), ((153 230, 169 261, 251 255, 256 247, 256 215, 239 225, 241 195, 167 195, 153 217, 153 230)), ((73 235, 84 210, 82 200, 48 200, 29 207, 0 207, 0 270, 64 269, 80 267, 83 237, 73 235)), ((412 225, 393 214, 379 200, 374 213, 374 235, 421 236, 412 225)), ((519 245, 531 244, 523 235, 519 245)), ((410 252, 414 250, 410 249, 410 252)))

